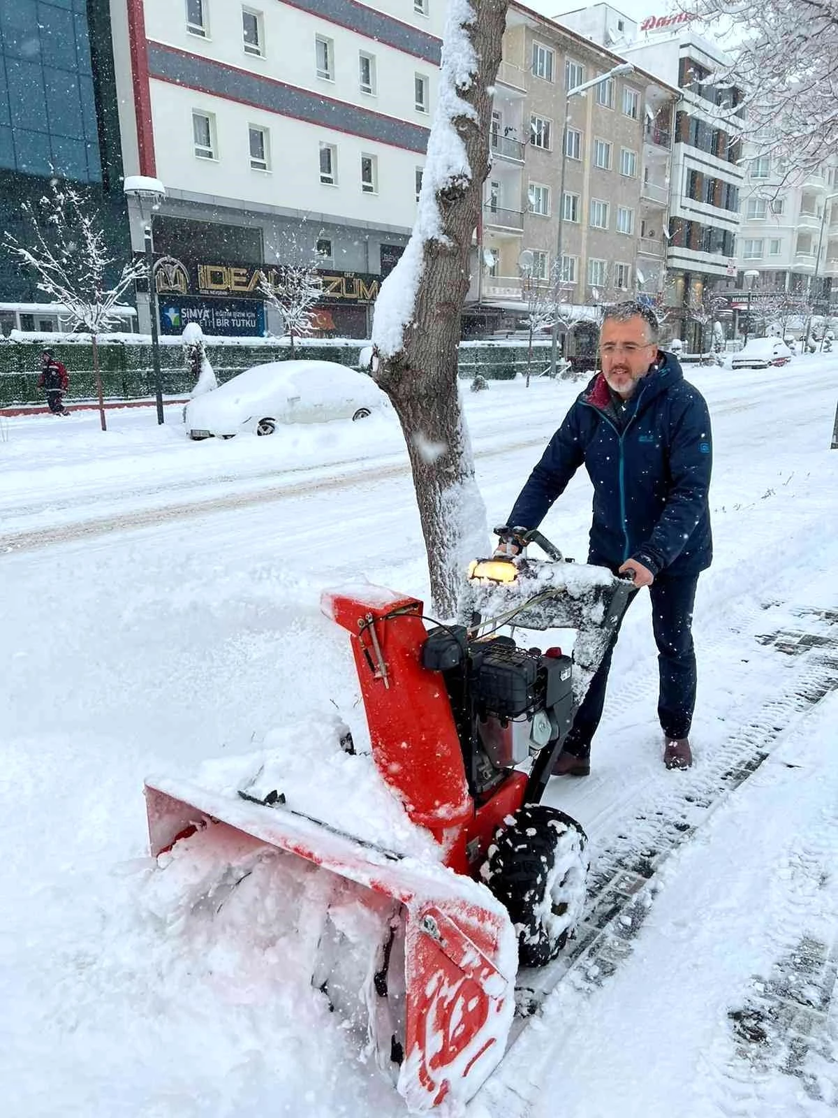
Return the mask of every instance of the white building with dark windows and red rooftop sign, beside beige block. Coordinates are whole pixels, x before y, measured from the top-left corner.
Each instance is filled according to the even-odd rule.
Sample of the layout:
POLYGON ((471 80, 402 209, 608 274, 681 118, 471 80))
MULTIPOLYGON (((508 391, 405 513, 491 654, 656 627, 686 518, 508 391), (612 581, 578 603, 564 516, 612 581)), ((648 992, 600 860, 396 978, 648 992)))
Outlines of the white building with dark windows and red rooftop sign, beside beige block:
MULTIPOLYGON (((736 273, 736 235, 740 228, 740 191, 744 173, 741 142, 720 124, 715 111, 735 108, 741 93, 716 87, 711 74, 724 65, 725 55, 691 30, 689 21, 661 17, 641 25, 610 4, 558 17, 582 34, 613 42, 629 61, 679 87, 669 176, 666 240, 667 302, 688 347, 698 342, 699 328, 691 322, 688 305, 701 302, 705 291, 724 284, 736 273)), ((649 126, 658 124, 649 119, 649 126)), ((649 215, 641 236, 650 231, 649 215)))

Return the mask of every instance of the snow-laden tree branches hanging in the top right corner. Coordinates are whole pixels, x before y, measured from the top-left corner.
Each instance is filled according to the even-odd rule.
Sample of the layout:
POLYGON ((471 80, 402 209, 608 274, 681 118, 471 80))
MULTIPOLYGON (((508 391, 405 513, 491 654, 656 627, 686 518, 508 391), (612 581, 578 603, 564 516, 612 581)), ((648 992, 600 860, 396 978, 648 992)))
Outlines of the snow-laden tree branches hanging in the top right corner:
POLYGON ((838 0, 682 0, 726 31, 730 66, 711 75, 730 83, 743 103, 717 110, 726 126, 782 160, 784 174, 811 170, 838 150, 838 0), (739 39, 739 42, 736 40, 739 39))

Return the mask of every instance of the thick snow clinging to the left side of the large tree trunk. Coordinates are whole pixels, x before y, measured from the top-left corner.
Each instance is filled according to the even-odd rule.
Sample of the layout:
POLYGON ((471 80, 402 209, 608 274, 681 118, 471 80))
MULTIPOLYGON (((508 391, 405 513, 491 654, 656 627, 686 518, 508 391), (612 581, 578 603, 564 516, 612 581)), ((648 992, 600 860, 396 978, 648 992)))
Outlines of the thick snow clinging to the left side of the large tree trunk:
POLYGON ((461 93, 472 88, 478 70, 468 28, 475 22, 469 0, 449 0, 442 39, 437 107, 413 231, 398 264, 384 280, 375 301, 372 342, 382 358, 403 348, 404 330, 413 320, 417 294, 429 240, 446 243, 440 202, 460 196, 472 181, 472 169, 458 122, 477 121, 461 93))

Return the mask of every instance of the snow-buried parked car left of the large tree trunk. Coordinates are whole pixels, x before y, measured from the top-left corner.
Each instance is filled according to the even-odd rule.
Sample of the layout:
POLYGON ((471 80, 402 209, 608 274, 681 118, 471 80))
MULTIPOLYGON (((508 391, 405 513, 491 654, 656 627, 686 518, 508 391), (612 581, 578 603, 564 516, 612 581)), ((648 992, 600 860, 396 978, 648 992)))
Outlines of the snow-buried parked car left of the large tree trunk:
POLYGON ((256 364, 190 400, 183 419, 190 438, 273 435, 282 424, 364 419, 389 406, 365 373, 334 361, 256 364))

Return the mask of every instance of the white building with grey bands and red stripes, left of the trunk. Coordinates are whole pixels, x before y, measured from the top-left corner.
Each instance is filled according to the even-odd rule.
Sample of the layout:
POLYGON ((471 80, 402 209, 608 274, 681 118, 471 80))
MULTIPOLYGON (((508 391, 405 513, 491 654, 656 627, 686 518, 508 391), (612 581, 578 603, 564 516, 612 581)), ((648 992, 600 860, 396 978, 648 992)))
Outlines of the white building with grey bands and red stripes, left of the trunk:
POLYGON ((165 184, 155 252, 182 265, 158 280, 163 329, 212 332, 223 303, 278 330, 257 269, 316 256, 318 324, 368 334, 416 215, 445 7, 111 0, 125 174, 165 184))

